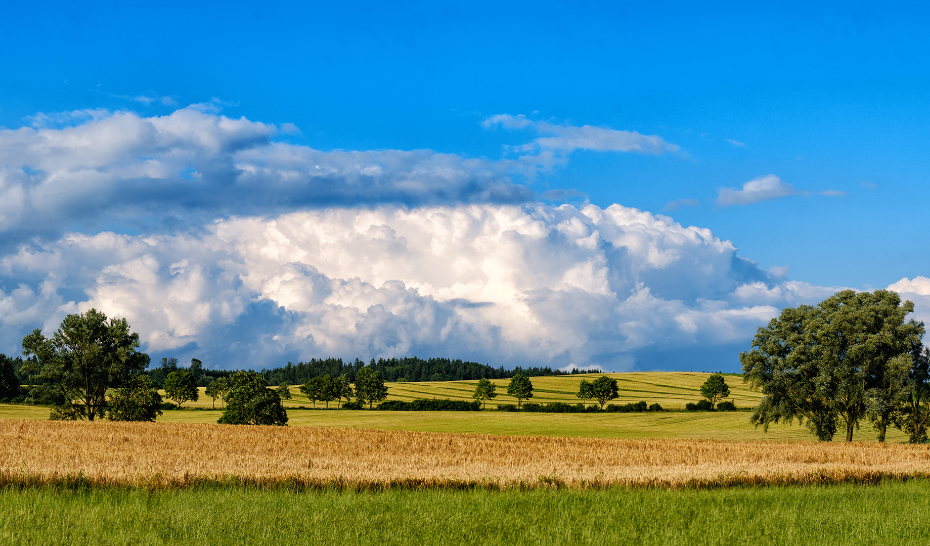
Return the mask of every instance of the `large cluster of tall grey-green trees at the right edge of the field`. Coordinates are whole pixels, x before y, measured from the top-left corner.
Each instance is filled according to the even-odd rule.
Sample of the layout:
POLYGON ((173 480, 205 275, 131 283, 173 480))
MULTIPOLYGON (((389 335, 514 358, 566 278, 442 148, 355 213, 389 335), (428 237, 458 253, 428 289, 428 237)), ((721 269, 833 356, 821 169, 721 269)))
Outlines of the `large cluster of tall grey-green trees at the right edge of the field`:
POLYGON ((739 353, 743 378, 764 396, 752 413, 763 426, 795 419, 818 439, 845 440, 870 422, 880 442, 889 426, 927 440, 930 353, 913 303, 895 292, 844 290, 815 306, 782 310, 739 353))

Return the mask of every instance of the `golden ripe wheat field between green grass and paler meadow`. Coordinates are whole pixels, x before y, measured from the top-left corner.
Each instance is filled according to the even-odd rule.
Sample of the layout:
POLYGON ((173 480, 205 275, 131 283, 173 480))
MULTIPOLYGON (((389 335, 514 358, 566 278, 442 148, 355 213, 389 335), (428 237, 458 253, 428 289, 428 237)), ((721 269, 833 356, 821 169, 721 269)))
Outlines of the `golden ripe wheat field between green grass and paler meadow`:
POLYGON ((930 475, 930 447, 0 421, 0 482, 602 487, 870 482, 930 475))

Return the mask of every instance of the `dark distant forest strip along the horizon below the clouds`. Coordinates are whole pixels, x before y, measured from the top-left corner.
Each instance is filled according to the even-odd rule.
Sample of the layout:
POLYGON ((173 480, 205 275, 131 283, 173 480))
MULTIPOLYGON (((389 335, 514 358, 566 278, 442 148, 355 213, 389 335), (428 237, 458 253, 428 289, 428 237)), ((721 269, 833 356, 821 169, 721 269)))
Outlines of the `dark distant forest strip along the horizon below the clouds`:
POLYGON ((601 373, 600 370, 578 370, 565 372, 559 369, 545 367, 517 366, 513 369, 497 368, 477 362, 467 362, 459 359, 430 358, 422 359, 416 356, 405 358, 379 358, 365 362, 356 358, 354 362, 344 362, 341 358, 311 359, 309 362, 263 369, 261 373, 272 385, 286 382, 289 385, 306 383, 313 378, 338 378, 345 375, 350 382, 355 381, 355 374, 363 367, 377 371, 385 381, 458 381, 458 380, 502 380, 510 379, 516 375, 523 376, 557 376, 578 373, 601 373))

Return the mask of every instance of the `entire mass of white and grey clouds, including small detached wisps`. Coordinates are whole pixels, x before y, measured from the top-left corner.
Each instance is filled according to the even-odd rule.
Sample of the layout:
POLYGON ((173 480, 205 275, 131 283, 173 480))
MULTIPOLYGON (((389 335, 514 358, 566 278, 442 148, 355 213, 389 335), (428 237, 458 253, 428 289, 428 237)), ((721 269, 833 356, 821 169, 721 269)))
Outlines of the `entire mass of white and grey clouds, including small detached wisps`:
MULTIPOLYGON (((494 124, 532 125, 536 155, 320 152, 208 105, 0 130, 0 351, 96 307, 126 316, 154 356, 207 366, 442 354, 732 369, 780 306, 833 291, 666 217, 535 204, 511 178, 547 153, 677 150, 658 136, 494 124), (61 123, 77 125, 47 127, 61 123)), ((763 186, 744 193, 777 184, 763 186)))

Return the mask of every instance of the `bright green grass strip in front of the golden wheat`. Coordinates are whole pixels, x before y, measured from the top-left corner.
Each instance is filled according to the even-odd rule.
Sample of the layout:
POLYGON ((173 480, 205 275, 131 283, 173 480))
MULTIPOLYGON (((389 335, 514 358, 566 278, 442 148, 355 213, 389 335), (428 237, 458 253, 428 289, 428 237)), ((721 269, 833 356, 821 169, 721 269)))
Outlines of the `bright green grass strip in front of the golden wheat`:
POLYGON ((293 493, 0 489, 3 544, 926 544, 930 484, 293 493))

